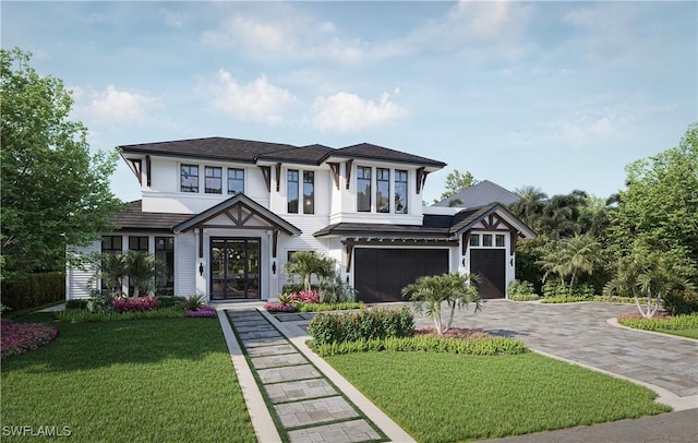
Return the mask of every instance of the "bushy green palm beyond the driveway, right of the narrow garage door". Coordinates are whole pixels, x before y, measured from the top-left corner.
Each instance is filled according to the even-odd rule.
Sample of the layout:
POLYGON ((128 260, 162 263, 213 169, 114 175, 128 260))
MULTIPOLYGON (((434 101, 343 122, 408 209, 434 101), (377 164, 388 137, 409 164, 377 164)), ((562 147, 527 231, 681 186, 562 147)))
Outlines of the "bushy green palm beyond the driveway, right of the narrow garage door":
POLYGON ((585 234, 547 243, 546 252, 539 263, 545 271, 543 280, 551 273, 556 274, 562 282, 569 277, 571 289, 580 274, 593 274, 604 261, 601 244, 590 234, 585 234))

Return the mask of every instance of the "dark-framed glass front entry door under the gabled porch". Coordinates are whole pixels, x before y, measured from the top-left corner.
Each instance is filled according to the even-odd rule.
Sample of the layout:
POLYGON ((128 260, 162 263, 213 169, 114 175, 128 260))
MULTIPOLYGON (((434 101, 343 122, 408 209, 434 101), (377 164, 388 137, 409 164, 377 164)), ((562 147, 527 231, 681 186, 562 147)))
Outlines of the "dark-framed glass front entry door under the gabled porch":
POLYGON ((210 298, 260 298, 260 239, 210 240, 210 298))

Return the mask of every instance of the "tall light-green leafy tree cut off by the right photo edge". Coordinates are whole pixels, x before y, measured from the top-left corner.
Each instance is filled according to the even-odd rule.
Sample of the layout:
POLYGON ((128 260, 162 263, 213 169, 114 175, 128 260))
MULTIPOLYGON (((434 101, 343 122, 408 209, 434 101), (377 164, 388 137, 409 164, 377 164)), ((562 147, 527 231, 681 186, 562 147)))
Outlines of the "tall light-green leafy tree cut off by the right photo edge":
POLYGON ((677 147, 631 163, 626 175, 627 189, 609 214, 614 251, 671 251, 698 283, 698 124, 677 147))

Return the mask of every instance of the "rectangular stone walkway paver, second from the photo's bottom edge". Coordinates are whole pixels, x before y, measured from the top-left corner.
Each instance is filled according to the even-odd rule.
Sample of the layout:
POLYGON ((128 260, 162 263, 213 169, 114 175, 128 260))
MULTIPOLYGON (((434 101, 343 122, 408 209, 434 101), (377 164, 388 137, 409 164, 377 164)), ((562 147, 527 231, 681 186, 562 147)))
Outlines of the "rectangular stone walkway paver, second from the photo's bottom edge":
POLYGON ((285 403, 274 408, 286 428, 359 417, 359 414, 342 397, 285 403))

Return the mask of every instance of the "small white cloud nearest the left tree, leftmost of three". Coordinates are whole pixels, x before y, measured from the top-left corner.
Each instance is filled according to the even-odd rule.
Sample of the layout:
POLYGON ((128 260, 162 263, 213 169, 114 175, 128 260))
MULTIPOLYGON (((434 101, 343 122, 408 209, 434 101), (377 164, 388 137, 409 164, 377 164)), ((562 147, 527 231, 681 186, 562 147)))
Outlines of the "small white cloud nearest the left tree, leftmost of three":
POLYGON ((142 121, 148 108, 158 101, 156 97, 128 91, 120 91, 115 85, 104 91, 81 88, 74 89, 75 101, 86 101, 83 106, 87 119, 97 124, 118 124, 142 121))

